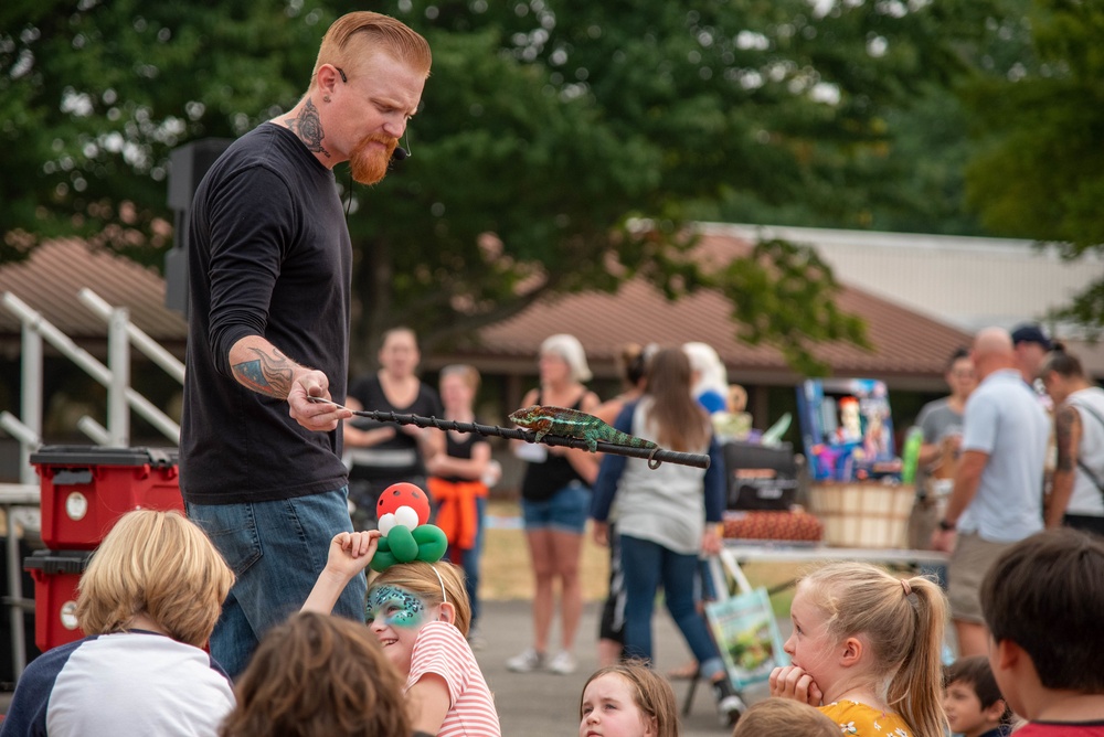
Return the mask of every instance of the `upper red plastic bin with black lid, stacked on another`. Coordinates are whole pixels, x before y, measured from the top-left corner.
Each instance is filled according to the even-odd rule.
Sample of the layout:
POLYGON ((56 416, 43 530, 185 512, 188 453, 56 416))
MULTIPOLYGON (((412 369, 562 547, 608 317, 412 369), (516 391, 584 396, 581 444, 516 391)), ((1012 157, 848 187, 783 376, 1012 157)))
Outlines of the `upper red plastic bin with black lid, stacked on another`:
POLYGON ((46 547, 91 551, 131 510, 184 511, 177 449, 44 446, 31 455, 46 547))

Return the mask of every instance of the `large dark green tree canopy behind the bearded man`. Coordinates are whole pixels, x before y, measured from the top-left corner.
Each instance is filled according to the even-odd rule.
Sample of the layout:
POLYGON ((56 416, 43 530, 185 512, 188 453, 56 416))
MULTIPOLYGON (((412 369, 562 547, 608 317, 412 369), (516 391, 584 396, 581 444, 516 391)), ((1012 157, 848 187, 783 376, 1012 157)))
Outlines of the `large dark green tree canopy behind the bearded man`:
MULTIPOLYGON (((168 152, 295 104, 321 33, 351 9, 307 1, 6 3, 0 259, 76 233, 160 263, 168 152)), ((443 346, 543 293, 643 276, 671 297, 722 289, 745 339, 821 368, 815 342, 863 341, 830 308, 830 271, 778 244, 707 271, 681 225, 740 201, 869 213, 890 122, 964 71, 985 6, 382 3, 426 35, 434 70, 413 158, 346 192, 359 362, 390 324, 443 346)))

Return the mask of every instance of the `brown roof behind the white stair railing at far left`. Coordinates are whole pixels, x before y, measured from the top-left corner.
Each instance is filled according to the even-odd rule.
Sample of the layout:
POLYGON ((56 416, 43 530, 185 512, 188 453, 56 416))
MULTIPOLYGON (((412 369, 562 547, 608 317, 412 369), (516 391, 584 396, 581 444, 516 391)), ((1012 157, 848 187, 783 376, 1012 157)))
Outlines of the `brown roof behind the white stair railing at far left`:
MULTIPOLYGON (((11 293, 36 310, 70 338, 103 341, 107 323, 77 295, 91 288, 115 307, 126 307, 130 321, 164 348, 183 355, 188 323, 164 307, 164 280, 153 269, 78 238, 59 238, 36 247, 31 256, 0 268, 0 295, 11 293)), ((0 337, 8 355, 19 352, 20 320, 0 309, 0 337)))

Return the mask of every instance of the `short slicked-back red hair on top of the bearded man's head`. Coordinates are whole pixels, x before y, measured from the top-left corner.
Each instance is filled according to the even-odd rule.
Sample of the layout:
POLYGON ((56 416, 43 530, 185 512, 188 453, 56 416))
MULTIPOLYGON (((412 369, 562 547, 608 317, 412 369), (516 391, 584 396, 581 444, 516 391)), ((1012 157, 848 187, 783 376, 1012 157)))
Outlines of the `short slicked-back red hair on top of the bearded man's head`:
POLYGON ((362 10, 342 15, 326 31, 310 73, 310 89, 318 84, 322 64, 332 64, 348 75, 360 67, 365 56, 381 51, 429 76, 433 56, 421 34, 390 15, 362 10))

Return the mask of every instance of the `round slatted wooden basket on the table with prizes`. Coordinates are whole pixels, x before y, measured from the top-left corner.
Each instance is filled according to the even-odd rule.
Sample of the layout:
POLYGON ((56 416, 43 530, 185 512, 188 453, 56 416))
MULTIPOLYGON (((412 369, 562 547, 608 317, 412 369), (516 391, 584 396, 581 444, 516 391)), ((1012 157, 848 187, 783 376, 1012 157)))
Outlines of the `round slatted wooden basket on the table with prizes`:
POLYGON ((903 548, 914 496, 912 484, 818 482, 809 508, 824 522, 828 545, 903 548))

